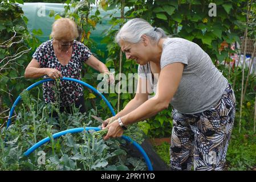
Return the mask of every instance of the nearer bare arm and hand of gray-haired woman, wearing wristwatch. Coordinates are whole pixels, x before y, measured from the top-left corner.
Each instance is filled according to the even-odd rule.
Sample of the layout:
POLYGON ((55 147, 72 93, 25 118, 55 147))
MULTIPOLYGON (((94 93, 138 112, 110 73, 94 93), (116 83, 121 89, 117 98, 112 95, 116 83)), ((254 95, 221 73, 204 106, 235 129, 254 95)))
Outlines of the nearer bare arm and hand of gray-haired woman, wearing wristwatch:
MULTIPOLYGON (((130 125, 150 118, 159 113, 159 111, 166 109, 178 89, 183 68, 184 64, 182 63, 166 65, 160 72, 156 96, 145 101, 142 105, 137 107, 137 109, 131 111, 131 113, 121 117, 123 124, 130 125)), ((120 127, 117 120, 109 124, 106 128, 108 129, 108 134, 104 137, 105 140, 111 137, 121 137, 123 134, 123 129, 120 127)))

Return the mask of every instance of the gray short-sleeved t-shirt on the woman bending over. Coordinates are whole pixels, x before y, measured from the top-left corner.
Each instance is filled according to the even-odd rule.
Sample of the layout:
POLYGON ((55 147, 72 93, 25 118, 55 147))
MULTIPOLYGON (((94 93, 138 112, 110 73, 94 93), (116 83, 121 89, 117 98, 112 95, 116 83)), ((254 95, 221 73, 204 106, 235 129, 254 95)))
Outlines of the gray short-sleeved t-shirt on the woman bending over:
MULTIPOLYGON (((167 38, 162 46, 161 69, 177 62, 184 64, 184 70, 170 104, 184 114, 200 113, 217 104, 228 82, 214 66, 209 55, 189 40, 167 38)), ((149 78, 154 86, 156 83, 153 83, 150 74, 149 64, 139 65, 139 77, 149 78)))

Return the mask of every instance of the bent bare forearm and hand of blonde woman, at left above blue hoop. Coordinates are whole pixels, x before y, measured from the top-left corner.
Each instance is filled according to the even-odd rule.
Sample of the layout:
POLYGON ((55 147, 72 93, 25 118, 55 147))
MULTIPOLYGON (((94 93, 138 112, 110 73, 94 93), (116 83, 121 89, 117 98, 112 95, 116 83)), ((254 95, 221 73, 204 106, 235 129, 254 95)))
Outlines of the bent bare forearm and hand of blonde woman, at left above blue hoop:
POLYGON ((47 75, 52 79, 62 77, 62 73, 54 68, 40 68, 40 64, 36 59, 32 59, 25 69, 25 78, 38 78, 47 75))

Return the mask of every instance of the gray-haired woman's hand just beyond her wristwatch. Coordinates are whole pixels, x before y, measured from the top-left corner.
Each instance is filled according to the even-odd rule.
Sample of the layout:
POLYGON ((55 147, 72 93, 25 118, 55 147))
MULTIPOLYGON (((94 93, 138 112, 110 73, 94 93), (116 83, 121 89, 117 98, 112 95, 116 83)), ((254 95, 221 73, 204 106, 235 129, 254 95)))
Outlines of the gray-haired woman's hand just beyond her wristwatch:
POLYGON ((107 135, 105 135, 105 137, 103 138, 104 140, 108 140, 109 138, 121 137, 124 133, 124 130, 119 125, 118 120, 109 123, 108 126, 104 129, 108 129, 107 135))

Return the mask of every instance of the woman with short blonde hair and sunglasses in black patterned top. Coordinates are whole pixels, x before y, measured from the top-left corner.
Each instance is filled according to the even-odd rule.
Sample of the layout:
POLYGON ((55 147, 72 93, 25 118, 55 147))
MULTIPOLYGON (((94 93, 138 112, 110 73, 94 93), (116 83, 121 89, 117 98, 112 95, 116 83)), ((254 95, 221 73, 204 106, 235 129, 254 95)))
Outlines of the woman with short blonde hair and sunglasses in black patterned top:
MULTIPOLYGON (((33 59, 27 65, 26 78, 70 77, 81 80, 80 73, 83 63, 90 65, 100 73, 109 73, 108 68, 97 60, 83 43, 77 42, 78 29, 73 20, 60 18, 52 24, 52 39, 42 43, 32 55, 33 59)), ((54 82, 44 82, 43 97, 45 102, 55 102, 54 82)), ((85 105, 82 85, 71 82, 60 82, 60 111, 71 112, 71 105, 80 107, 84 113, 85 105)), ((56 117, 56 116, 55 116, 56 117)))

